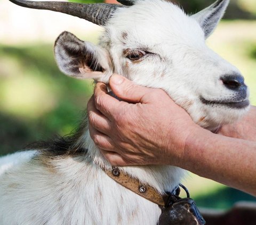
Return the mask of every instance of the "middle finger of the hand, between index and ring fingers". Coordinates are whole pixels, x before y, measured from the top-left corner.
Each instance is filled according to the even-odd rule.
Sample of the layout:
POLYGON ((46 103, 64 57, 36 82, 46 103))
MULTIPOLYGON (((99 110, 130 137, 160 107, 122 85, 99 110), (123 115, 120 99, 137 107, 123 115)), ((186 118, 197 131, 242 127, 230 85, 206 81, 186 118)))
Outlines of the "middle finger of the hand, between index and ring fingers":
POLYGON ((111 128, 110 120, 96 109, 93 97, 87 104, 87 114, 89 123, 94 129, 105 135, 109 134, 111 128))

